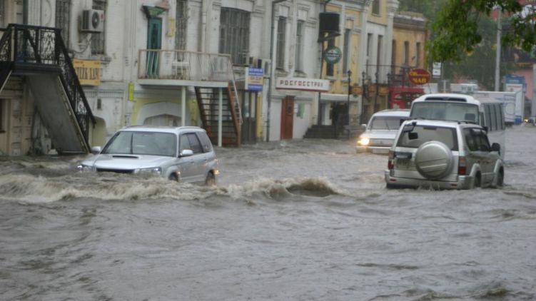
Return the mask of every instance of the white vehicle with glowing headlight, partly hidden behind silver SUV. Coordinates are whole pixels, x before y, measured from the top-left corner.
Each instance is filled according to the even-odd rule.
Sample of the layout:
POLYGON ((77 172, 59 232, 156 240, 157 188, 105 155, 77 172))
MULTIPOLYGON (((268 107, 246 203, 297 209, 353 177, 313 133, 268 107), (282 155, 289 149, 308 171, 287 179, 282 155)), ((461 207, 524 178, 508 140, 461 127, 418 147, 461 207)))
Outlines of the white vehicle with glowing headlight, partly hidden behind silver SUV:
POLYGON ((408 120, 410 110, 388 109, 374 113, 368 124, 363 124, 365 131, 358 138, 355 149, 358 153, 389 153, 400 125, 408 120))

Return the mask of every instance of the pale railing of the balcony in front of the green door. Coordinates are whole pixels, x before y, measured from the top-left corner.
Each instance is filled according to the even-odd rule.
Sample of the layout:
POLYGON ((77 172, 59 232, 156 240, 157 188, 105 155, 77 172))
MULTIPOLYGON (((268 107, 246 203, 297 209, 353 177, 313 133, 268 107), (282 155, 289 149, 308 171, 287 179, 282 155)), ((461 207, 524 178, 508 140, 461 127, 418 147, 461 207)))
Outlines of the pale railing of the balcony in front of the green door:
POLYGON ((138 78, 233 81, 233 64, 227 54, 142 49, 138 62, 138 78))

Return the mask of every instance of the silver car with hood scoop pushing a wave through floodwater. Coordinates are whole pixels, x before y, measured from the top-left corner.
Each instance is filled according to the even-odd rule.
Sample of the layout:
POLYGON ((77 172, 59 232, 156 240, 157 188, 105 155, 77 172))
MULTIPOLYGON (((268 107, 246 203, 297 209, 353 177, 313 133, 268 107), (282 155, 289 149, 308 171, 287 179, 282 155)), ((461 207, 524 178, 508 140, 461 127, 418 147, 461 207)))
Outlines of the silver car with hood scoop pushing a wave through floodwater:
POLYGON ((78 165, 81 171, 150 173, 188 183, 216 184, 218 160, 203 128, 130 126, 78 165))

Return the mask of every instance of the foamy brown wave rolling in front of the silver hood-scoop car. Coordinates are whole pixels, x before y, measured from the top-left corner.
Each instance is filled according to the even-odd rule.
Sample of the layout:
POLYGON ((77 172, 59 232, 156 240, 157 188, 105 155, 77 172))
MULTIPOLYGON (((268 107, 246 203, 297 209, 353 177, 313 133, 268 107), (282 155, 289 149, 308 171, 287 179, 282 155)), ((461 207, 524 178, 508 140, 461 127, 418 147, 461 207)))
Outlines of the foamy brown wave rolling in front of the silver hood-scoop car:
POLYGON ((163 178, 131 175, 60 175, 34 176, 11 174, 0 177, 0 195, 24 203, 49 203, 75 198, 103 200, 203 200, 211 196, 233 199, 253 195, 282 199, 293 195, 325 197, 343 194, 325 178, 259 179, 243 185, 207 187, 176 183, 163 178))

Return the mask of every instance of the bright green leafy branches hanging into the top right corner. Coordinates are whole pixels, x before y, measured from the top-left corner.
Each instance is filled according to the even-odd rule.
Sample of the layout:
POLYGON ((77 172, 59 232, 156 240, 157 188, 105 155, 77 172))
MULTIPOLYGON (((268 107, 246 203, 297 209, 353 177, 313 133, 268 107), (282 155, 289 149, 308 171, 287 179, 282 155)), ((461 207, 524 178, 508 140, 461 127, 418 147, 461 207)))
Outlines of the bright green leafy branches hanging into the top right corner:
POLYGON ((536 44, 534 9, 524 10, 517 0, 447 0, 432 23, 428 58, 461 61, 482 42, 480 20, 499 9, 509 25, 502 33, 502 44, 530 51, 536 44))

